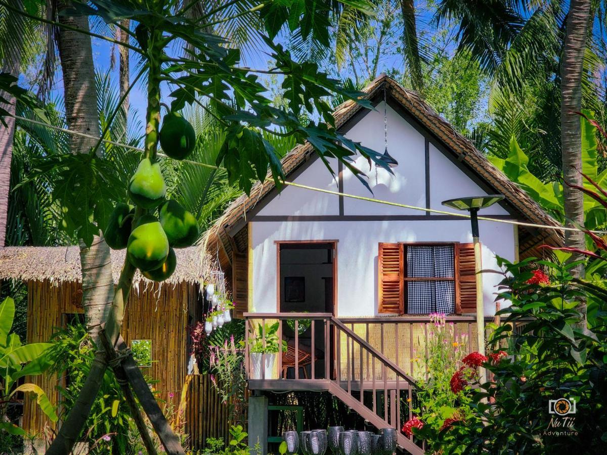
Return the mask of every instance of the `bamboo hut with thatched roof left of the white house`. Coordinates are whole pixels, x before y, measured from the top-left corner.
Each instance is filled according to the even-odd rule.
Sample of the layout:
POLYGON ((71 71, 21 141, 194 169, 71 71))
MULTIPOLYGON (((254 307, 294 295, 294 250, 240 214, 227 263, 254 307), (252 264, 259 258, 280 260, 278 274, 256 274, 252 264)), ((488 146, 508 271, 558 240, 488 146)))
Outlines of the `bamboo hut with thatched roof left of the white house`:
MULTIPOLYGON (((157 383, 158 398, 177 409, 181 391, 188 385, 186 431, 192 445, 201 447, 207 436, 225 437, 228 433, 227 409, 212 389, 206 376, 189 375, 188 326, 200 320, 203 297, 201 283, 212 274, 211 261, 196 248, 176 249, 177 268, 161 284, 135 275, 127 303, 122 335, 127 343, 151 342, 151 366, 142 367, 144 374, 157 383), (206 409, 214 409, 214 419, 201 419, 206 409)), ((124 262, 124 251, 112 251, 112 272, 118 280, 124 262)), ((216 279, 216 275, 215 275, 216 279)), ((27 342, 47 342, 55 329, 62 328, 81 306, 80 255, 77 246, 0 248, 0 280, 27 283, 27 342)), ((41 386, 55 404, 59 400, 57 385, 61 379, 46 374, 29 379, 41 386)), ((29 434, 41 434, 49 425, 46 416, 26 397, 23 428, 29 434)))

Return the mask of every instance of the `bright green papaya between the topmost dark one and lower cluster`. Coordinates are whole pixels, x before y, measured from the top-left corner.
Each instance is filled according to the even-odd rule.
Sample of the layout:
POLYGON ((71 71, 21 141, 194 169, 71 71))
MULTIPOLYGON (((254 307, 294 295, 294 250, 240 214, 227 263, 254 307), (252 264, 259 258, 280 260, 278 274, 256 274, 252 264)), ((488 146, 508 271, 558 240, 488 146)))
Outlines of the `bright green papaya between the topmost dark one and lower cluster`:
POLYGON ((160 172, 160 164, 144 158, 129 182, 129 196, 138 206, 154 209, 164 200, 165 194, 166 185, 160 172))

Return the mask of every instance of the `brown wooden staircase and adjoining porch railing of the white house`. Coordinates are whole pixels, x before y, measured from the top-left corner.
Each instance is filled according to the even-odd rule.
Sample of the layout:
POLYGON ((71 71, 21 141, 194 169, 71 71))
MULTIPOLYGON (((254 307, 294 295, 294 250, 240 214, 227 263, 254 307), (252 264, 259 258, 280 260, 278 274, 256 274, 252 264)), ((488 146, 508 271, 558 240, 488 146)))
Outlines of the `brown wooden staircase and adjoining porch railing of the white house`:
MULTIPOLYGON (((378 429, 397 428, 400 430, 402 423, 412 417, 411 404, 414 398, 415 380, 333 315, 326 313, 246 313, 245 331, 249 334, 246 337, 245 345, 249 389, 327 391, 378 429), (322 339, 324 352, 332 352, 333 355, 325 356, 324 361, 314 357, 311 362, 311 374, 306 375, 308 377, 300 377, 300 357, 297 354, 299 349, 295 349, 295 365, 291 369, 291 371, 294 370, 294 379, 283 377, 276 379, 275 373, 265 371, 265 363, 261 367, 260 377, 263 379, 256 378, 256 374, 259 375, 259 368, 256 374, 251 374, 253 372, 249 353, 251 334, 257 333, 257 335, 253 335, 253 339, 255 336, 261 337, 262 342, 265 343, 263 340, 265 340, 268 323, 277 321, 279 339, 284 339, 283 322, 285 320, 294 320, 294 340, 290 340, 294 342, 294 346, 300 346, 299 321, 312 320, 310 352, 316 352, 316 340, 322 339), (318 362, 322 362, 324 368, 316 368, 318 362)), ((277 358, 276 371, 282 371, 281 356, 277 356, 277 358)), ((412 438, 406 437, 401 431, 398 431, 397 434, 397 443, 402 450, 416 455, 424 453, 423 448, 416 445, 412 438)))

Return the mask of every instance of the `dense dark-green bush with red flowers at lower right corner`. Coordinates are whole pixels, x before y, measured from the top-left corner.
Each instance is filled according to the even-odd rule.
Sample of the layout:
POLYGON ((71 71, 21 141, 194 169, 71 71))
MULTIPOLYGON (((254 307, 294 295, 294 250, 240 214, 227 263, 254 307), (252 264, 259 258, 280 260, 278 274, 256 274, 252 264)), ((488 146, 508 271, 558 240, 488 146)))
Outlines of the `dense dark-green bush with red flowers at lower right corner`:
POLYGON ((555 261, 498 259, 504 268, 500 297, 512 306, 501 311, 506 317, 490 343, 509 340, 507 357, 485 363, 492 380, 462 392, 462 399, 472 400, 465 422, 444 431, 425 426, 419 437, 449 453, 567 453, 580 447, 600 453, 605 447, 605 280, 596 286, 573 278, 577 261, 557 253, 555 261), (530 281, 537 266, 548 272, 548 284, 530 281), (600 302, 589 327, 580 325, 577 309, 585 299, 600 302), (549 414, 549 400, 561 397, 577 405, 567 420, 549 414))

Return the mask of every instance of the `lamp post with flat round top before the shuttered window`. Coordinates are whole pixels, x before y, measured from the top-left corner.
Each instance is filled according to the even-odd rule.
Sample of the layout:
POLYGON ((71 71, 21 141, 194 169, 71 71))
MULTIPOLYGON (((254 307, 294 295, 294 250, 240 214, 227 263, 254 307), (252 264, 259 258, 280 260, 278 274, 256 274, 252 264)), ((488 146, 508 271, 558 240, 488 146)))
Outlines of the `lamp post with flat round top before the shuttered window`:
MULTIPOLYGON (((503 199, 501 194, 492 194, 487 196, 473 196, 466 198, 449 199, 443 201, 443 205, 456 210, 466 210, 470 212, 470 221, 472 223, 472 241, 474 243, 474 270, 476 272, 476 342, 478 343, 478 352, 485 355, 485 313, 483 306, 483 275, 481 271, 481 243, 478 240, 478 211, 492 206, 503 199)), ((484 368, 481 369, 481 375, 484 381, 484 368)))

